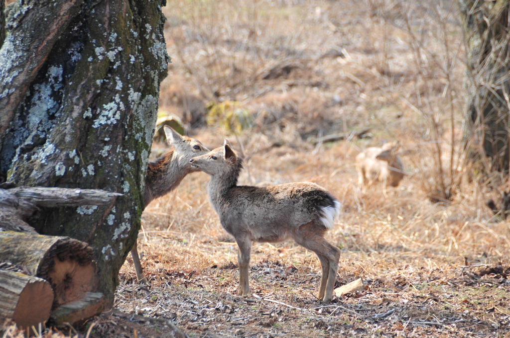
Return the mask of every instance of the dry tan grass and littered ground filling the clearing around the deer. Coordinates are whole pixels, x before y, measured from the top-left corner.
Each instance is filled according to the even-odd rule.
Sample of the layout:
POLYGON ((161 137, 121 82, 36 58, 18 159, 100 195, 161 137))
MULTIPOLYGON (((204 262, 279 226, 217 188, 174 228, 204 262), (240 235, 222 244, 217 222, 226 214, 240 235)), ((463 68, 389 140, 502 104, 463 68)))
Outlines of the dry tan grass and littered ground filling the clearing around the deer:
MULTIPOLYGON (((465 65, 452 4, 171 2, 161 109, 209 148, 230 138, 246 159, 240 184, 313 181, 336 195, 345 213, 327 239, 342 248, 338 285, 362 277, 369 289, 322 306, 314 253, 265 243, 253 247, 250 286, 281 303, 235 296, 237 246, 197 173, 143 213, 151 287, 134 284, 128 258, 117 307, 194 336, 507 336, 510 227, 486 207, 496 188, 461 180, 465 65), (256 125, 238 135, 207 127, 207 104, 224 100, 256 125), (365 128, 368 139, 313 142, 365 128), (380 185, 361 193, 354 157, 393 139, 408 175, 388 198, 380 185), (502 272, 483 274, 498 263, 502 272)), ((98 336, 115 336, 107 322, 98 336)))

